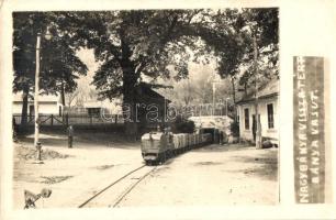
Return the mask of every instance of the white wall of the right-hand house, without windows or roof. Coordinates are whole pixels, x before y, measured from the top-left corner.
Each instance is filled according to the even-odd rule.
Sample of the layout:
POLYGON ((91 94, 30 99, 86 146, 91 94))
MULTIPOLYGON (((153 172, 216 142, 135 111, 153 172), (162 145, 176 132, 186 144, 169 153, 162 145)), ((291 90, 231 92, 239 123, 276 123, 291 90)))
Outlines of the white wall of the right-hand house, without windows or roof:
MULTIPOLYGON (((262 99, 259 100, 258 105, 258 113, 260 114, 261 122, 261 135, 265 138, 272 138, 279 140, 279 116, 278 116, 278 98, 262 99), (273 118, 275 118, 275 128, 268 128, 268 116, 267 116, 267 105, 273 105, 273 118)), ((255 114, 255 106, 253 102, 239 105, 238 106, 238 114, 239 114, 239 133, 240 138, 244 140, 254 140, 253 135, 253 114, 255 114), (245 129, 245 116, 244 109, 249 109, 249 129, 245 129)))

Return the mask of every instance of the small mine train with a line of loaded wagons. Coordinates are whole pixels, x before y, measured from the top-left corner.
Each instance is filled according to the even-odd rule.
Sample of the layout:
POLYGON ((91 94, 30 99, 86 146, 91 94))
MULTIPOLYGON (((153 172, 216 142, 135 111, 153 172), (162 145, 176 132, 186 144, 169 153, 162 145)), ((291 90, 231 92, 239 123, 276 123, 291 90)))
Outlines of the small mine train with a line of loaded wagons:
POLYGON ((142 136, 142 155, 147 165, 165 162, 167 158, 201 147, 213 142, 213 134, 149 132, 142 136))

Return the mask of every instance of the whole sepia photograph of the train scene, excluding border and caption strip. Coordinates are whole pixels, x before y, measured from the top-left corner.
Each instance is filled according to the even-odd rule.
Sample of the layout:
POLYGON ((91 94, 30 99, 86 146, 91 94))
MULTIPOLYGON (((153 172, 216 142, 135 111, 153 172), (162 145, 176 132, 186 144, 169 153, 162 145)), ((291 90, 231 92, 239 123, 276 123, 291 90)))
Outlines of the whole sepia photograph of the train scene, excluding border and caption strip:
POLYGON ((12 19, 15 209, 279 202, 278 8, 12 19))

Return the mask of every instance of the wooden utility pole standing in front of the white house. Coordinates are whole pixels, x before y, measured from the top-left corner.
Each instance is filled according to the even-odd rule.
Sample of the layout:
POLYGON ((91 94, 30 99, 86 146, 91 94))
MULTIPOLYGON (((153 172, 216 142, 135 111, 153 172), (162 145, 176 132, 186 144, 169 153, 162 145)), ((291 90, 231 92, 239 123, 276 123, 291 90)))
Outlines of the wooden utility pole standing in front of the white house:
POLYGON ((257 38, 255 33, 253 34, 254 37, 254 65, 255 65, 255 112, 256 112, 256 148, 261 148, 261 124, 259 120, 259 111, 258 111, 258 47, 257 47, 257 38))

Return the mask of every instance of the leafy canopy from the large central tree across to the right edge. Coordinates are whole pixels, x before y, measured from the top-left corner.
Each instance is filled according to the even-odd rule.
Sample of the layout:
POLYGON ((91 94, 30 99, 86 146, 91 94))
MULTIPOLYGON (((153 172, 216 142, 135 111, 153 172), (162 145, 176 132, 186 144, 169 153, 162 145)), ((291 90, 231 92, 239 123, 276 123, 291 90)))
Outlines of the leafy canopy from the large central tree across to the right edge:
POLYGON ((88 45, 102 62, 93 85, 102 97, 123 95, 124 103, 134 107, 136 88, 144 78, 183 78, 191 58, 217 56, 219 73, 235 77, 239 66, 251 58, 253 30, 258 32, 260 47, 277 46, 277 9, 91 13, 87 18, 88 45))

